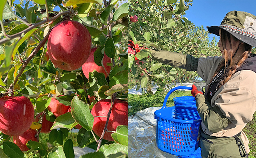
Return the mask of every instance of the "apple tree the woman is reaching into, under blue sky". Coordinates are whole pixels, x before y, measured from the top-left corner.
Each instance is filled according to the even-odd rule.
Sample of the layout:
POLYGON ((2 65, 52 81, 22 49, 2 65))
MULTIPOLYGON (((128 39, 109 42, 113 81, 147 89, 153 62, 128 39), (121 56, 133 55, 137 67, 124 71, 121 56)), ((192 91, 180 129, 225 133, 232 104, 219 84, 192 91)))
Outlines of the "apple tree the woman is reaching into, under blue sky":
POLYGON ((152 81, 165 88, 175 81, 191 81, 198 77, 196 72, 152 60, 150 51, 142 48, 168 50, 195 57, 218 55, 216 38, 209 41, 209 32, 186 18, 186 11, 191 6, 192 0, 129 2, 129 40, 135 45, 133 50, 128 51, 129 81, 136 80, 137 88, 144 87, 150 93, 152 81), (137 51, 134 51, 136 48, 137 51))

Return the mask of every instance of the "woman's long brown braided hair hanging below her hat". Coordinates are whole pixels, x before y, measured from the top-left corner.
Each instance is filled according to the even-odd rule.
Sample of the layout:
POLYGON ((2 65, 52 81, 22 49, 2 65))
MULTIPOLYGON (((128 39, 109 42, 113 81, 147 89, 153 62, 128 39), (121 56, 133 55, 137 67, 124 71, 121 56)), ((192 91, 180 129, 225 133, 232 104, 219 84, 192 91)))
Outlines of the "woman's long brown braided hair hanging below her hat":
MULTIPOLYGON (((231 36, 233 36, 233 35, 231 35, 229 32, 227 32, 223 29, 221 30, 221 42, 222 42, 222 47, 224 50, 224 59, 221 61, 221 63, 219 63, 219 66, 216 69, 216 71, 214 72, 213 77, 212 77, 212 80, 213 80, 213 78, 219 73, 219 71, 221 71, 221 69, 224 68, 224 78, 222 77, 223 79, 218 84, 218 87, 217 87, 218 89, 221 86, 223 86, 223 84, 225 84, 227 81, 229 81, 229 79, 232 77, 232 75, 235 74, 235 72, 244 64, 245 59, 247 59, 248 56, 250 55, 250 51, 252 48, 251 45, 244 43, 245 50, 244 50, 244 53, 242 53, 241 59, 238 62, 236 62, 234 65, 232 65, 232 62, 233 62, 232 57, 235 53, 231 49, 232 48, 232 42, 230 40, 231 36), (230 48, 226 48, 226 46, 227 46, 226 41, 229 42, 230 48), (230 53, 227 51, 227 49, 231 49, 231 51, 229 51, 230 53), (230 68, 227 67, 228 62, 230 63, 230 65, 232 65, 232 66, 230 66, 230 68)), ((234 36, 233 36, 233 39, 235 41, 239 41, 239 39, 235 38, 234 36)), ((211 82, 212 82, 212 80, 211 80, 211 82)))

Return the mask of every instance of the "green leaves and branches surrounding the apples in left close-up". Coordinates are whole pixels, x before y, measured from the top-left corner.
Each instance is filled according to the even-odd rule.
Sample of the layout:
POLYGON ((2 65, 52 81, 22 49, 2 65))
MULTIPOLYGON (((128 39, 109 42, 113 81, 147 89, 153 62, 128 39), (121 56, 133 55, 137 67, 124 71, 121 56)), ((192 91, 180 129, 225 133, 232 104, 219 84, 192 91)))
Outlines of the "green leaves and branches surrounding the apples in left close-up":
MULTIPOLYGON (((74 144, 94 150, 97 144, 108 144, 117 150, 103 154, 106 151, 99 146, 103 157, 120 156, 120 152, 126 156, 127 144, 119 146, 106 140, 96 143, 90 110, 101 99, 128 98, 128 3, 125 0, 112 0, 109 4, 101 0, 5 0, 0 4, 0 20, 0 97, 26 96, 34 104, 36 115, 43 112, 48 121, 54 122, 47 134, 47 144, 40 141, 46 137, 40 133, 40 143, 29 141, 30 150, 25 153, 9 136, 0 133, 0 157, 71 158, 75 156, 74 144), (47 59, 49 32, 63 20, 78 21, 88 29, 92 47, 98 48, 94 55, 97 65, 103 66, 104 52, 111 58, 108 65, 112 68, 107 78, 97 71, 90 72, 86 78, 81 68, 65 71, 47 59), (71 113, 56 118, 47 108, 52 98, 71 105, 71 113), (75 142, 67 139, 69 131, 78 124, 84 128, 78 132, 75 142)), ((91 156, 97 154, 99 152, 90 153, 91 156)))

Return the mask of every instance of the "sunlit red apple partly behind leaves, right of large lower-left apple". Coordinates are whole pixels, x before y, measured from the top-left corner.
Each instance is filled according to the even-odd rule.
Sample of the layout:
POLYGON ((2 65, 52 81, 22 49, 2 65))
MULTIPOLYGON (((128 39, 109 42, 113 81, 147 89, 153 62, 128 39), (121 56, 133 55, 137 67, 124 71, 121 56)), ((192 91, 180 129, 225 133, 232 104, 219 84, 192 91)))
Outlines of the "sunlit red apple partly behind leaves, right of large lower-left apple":
POLYGON ((62 114, 67 113, 67 110, 69 110, 69 107, 70 106, 66 106, 64 104, 59 103, 57 99, 52 97, 52 100, 48 106, 48 110, 51 111, 54 114, 54 116, 59 117, 62 114))

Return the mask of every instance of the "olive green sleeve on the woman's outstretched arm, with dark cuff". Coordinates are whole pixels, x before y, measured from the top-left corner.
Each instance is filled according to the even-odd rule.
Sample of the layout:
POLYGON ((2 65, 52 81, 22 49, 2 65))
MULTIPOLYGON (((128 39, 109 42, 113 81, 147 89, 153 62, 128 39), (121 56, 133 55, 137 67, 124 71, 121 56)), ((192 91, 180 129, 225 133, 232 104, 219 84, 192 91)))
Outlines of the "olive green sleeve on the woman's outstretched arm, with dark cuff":
POLYGON ((198 58, 188 54, 180 54, 170 51, 155 51, 149 49, 152 53, 152 59, 174 67, 186 69, 187 71, 197 71, 198 58))

